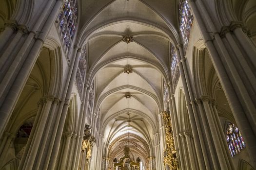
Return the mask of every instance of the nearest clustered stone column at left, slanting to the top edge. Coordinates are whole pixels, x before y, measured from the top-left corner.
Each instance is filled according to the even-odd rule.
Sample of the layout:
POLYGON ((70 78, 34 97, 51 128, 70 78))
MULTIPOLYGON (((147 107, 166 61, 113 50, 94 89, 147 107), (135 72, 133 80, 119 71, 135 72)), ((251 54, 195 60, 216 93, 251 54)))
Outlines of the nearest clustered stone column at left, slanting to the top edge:
MULTIPOLYGON (((30 32, 25 41, 19 42, 22 44, 20 51, 17 54, 14 54, 16 55, 15 60, 13 60, 8 70, 5 72, 5 76, 0 83, 0 136, 2 136, 6 122, 10 119, 10 115, 28 79, 28 75, 38 58, 44 40, 59 13, 59 8, 63 4, 62 0, 57 0, 54 5, 52 5, 52 2, 46 4, 45 14, 42 13, 42 16, 46 14, 49 14, 49 16, 43 17, 43 20, 39 17, 38 22, 35 24, 35 27, 43 25, 40 30, 42 34, 35 39, 35 32, 30 32), (45 22, 42 24, 43 21, 45 22), (30 46, 31 43, 33 46, 30 46), (31 48, 31 50, 29 51, 28 48, 31 48), (29 53, 27 54, 26 51, 29 51, 29 53), (21 64, 22 62, 24 63, 23 65, 21 64)), ((21 29, 27 31, 26 27, 22 27, 21 29)), ((36 31, 38 31, 38 28, 36 31)))

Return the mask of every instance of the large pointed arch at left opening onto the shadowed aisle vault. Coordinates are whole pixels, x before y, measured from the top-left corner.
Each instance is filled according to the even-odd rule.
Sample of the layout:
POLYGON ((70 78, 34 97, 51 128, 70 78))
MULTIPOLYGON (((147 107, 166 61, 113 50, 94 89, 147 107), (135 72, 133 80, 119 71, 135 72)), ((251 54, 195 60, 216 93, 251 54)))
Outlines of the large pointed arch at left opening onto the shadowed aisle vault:
MULTIPOLYGON (((59 98, 62 81, 62 62, 60 48, 53 39, 49 38, 46 40, 28 76, 28 80, 21 91, 20 97, 17 99, 18 102, 14 107, 11 119, 8 121, 6 129, 4 130, 6 134, 11 134, 8 137, 15 138, 20 126, 27 119, 37 115, 39 108, 38 102, 42 100, 44 96, 50 95, 54 96, 54 98, 59 98)), ((32 124, 34 124, 34 122, 32 124)), ((6 140, 4 142, 11 141, 6 140)), ((26 141, 24 141, 23 144, 26 145, 26 141)), ((5 145, 11 146, 10 143, 5 143, 5 145)), ((16 152, 18 151, 19 150, 16 151, 15 149, 13 150, 7 147, 5 153, 3 152, 0 155, 1 162, 4 164, 5 161, 7 161, 4 159, 5 154, 12 153, 11 155, 15 158, 16 152)))

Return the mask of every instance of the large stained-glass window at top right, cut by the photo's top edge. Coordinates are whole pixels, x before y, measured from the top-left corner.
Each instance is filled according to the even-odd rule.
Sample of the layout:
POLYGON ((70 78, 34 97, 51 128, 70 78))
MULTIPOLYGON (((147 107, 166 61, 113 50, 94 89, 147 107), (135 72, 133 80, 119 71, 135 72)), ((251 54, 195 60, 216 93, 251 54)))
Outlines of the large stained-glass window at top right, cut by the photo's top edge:
POLYGON ((190 31, 193 23, 193 15, 188 0, 179 0, 179 30, 183 38, 184 49, 187 49, 190 31))

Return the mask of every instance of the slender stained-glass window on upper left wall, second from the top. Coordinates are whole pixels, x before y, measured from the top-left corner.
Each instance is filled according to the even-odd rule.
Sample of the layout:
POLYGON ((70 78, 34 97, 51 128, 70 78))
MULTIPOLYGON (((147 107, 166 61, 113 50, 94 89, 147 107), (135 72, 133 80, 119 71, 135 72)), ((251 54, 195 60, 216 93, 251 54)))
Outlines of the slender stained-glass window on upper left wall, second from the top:
POLYGON ((86 72, 86 46, 83 46, 81 50, 81 56, 79 58, 79 66, 78 66, 76 80, 75 80, 80 98, 82 97, 81 93, 83 89, 85 72, 86 72))

